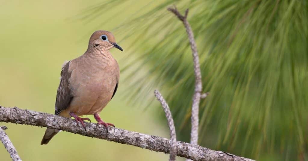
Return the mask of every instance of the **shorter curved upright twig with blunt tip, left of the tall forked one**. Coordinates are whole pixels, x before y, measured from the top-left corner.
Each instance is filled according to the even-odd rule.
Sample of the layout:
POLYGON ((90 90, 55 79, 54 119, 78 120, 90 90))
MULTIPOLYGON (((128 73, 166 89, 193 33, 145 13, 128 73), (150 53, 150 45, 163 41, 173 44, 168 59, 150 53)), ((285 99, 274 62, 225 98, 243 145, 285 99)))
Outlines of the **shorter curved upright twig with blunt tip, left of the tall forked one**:
POLYGON ((168 126, 170 130, 170 158, 169 161, 175 161, 175 156, 176 156, 176 132, 175 132, 175 127, 174 127, 174 122, 172 119, 171 111, 170 108, 165 101, 164 97, 160 94, 158 90, 154 91, 154 95, 157 98, 157 100, 160 102, 161 106, 163 106, 167 121, 168 121, 168 126))

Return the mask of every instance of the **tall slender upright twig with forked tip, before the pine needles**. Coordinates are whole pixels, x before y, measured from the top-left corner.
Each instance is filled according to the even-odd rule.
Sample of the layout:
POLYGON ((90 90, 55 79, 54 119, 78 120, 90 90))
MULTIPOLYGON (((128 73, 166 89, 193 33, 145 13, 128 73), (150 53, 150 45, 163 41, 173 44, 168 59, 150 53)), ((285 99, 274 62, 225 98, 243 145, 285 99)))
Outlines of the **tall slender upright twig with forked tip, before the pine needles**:
POLYGON ((193 105, 192 105, 192 113, 191 113, 191 123, 192 123, 192 130, 191 130, 191 144, 198 144, 198 128, 199 128, 199 104, 202 92, 202 82, 201 82, 201 69, 199 64, 199 56, 197 52, 197 45, 194 39, 193 30, 190 27, 187 21, 187 14, 188 9, 185 10, 185 15, 181 15, 180 12, 174 8, 168 8, 167 10, 173 12, 184 24, 186 28, 186 32, 188 35, 190 47, 192 49, 193 55, 193 62, 194 62, 194 72, 195 72, 195 92, 193 95, 193 105))

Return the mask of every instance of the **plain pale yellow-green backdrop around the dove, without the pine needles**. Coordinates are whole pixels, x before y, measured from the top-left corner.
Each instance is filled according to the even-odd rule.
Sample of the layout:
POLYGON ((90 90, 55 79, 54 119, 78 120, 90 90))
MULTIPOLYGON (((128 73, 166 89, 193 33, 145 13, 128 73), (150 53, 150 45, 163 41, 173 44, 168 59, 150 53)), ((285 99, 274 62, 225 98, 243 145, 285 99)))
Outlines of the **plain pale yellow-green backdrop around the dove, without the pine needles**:
MULTIPOLYGON (((61 65, 65 60, 82 55, 87 49, 90 35, 96 30, 112 31, 124 21, 122 16, 101 24, 115 12, 91 22, 78 17, 84 9, 100 1, 0 1, 0 105, 17 106, 54 113, 56 90, 59 85, 61 65)), ((103 9, 103 8, 102 8, 103 9)), ((113 33, 116 40, 124 35, 113 33)), ((118 42, 119 43, 119 42, 118 42)), ((119 43, 121 52, 112 49, 120 67, 128 43, 119 43)), ((128 105, 121 93, 128 82, 121 75, 118 92, 100 116, 116 127, 168 136, 165 121, 157 118, 153 108, 144 110, 128 105)), ((153 93, 149 93, 153 95, 153 93)), ((156 107, 155 107, 156 108, 156 107)), ((162 110, 162 109, 160 109, 162 110)), ((90 116, 91 120, 95 120, 90 116)), ((48 145, 40 145, 45 128, 26 125, 6 125, 10 137, 22 160, 167 160, 168 155, 139 147, 108 142, 96 138, 61 132, 48 145)), ((9 153, 0 145, 2 161, 10 160, 9 153)))

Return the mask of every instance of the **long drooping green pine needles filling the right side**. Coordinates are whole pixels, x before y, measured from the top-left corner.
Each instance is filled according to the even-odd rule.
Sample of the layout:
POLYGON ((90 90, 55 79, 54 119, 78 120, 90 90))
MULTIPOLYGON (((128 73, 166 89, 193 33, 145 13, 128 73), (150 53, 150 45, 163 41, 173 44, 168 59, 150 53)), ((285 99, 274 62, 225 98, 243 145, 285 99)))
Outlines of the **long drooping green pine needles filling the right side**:
POLYGON ((166 0, 117 28, 139 56, 122 70, 135 80, 127 95, 149 103, 154 88, 163 91, 178 139, 188 141, 193 63, 183 25, 166 10, 172 4, 190 9, 210 92, 200 106, 200 144, 254 159, 308 160, 307 1, 166 0))

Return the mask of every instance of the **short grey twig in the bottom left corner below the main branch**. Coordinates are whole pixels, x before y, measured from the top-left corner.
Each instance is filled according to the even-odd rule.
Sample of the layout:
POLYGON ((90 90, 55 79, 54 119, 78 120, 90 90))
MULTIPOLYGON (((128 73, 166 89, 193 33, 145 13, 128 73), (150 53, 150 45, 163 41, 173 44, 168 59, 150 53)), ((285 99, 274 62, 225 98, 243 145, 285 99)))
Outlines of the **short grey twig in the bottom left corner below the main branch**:
POLYGON ((0 126, 0 140, 2 144, 4 145, 4 147, 6 148, 6 150, 10 153, 12 160, 21 161, 13 143, 11 142, 10 138, 7 136, 7 134, 4 131, 6 129, 7 129, 6 126, 0 126))

